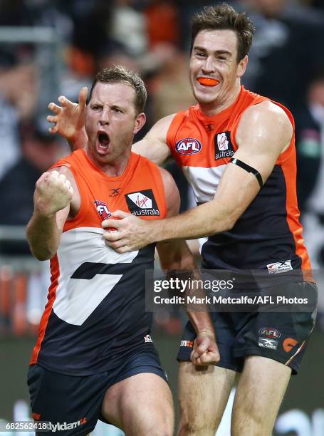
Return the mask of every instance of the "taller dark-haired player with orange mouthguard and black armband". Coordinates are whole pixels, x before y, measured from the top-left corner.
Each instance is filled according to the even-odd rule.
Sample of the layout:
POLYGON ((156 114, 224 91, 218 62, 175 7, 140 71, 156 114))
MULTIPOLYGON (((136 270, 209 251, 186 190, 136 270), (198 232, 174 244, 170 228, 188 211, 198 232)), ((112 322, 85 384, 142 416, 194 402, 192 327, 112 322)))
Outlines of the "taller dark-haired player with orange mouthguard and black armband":
MULTIPOLYGON (((281 274, 284 293, 313 295, 298 221, 293 117, 282 105, 241 86, 253 33, 246 15, 226 4, 194 16, 189 73, 198 104, 158 121, 133 146, 158 164, 174 156, 198 207, 159 222, 117 211, 113 217, 119 220, 103 224, 117 232, 104 237, 121 254, 156 241, 208 237, 202 246, 204 269, 261 269, 281 274), (304 279, 285 283, 291 270, 305 272, 304 279)), ((85 95, 83 88, 78 105, 61 97, 62 107, 49 106, 56 113, 48 117, 56 123, 50 131, 75 147, 84 135, 85 95)), ((221 355, 217 366, 198 372, 189 363, 188 348, 180 347, 179 434, 214 435, 241 373, 231 435, 269 435, 315 316, 220 312, 213 318, 221 355)), ((183 338, 194 336, 188 323, 183 338)))

